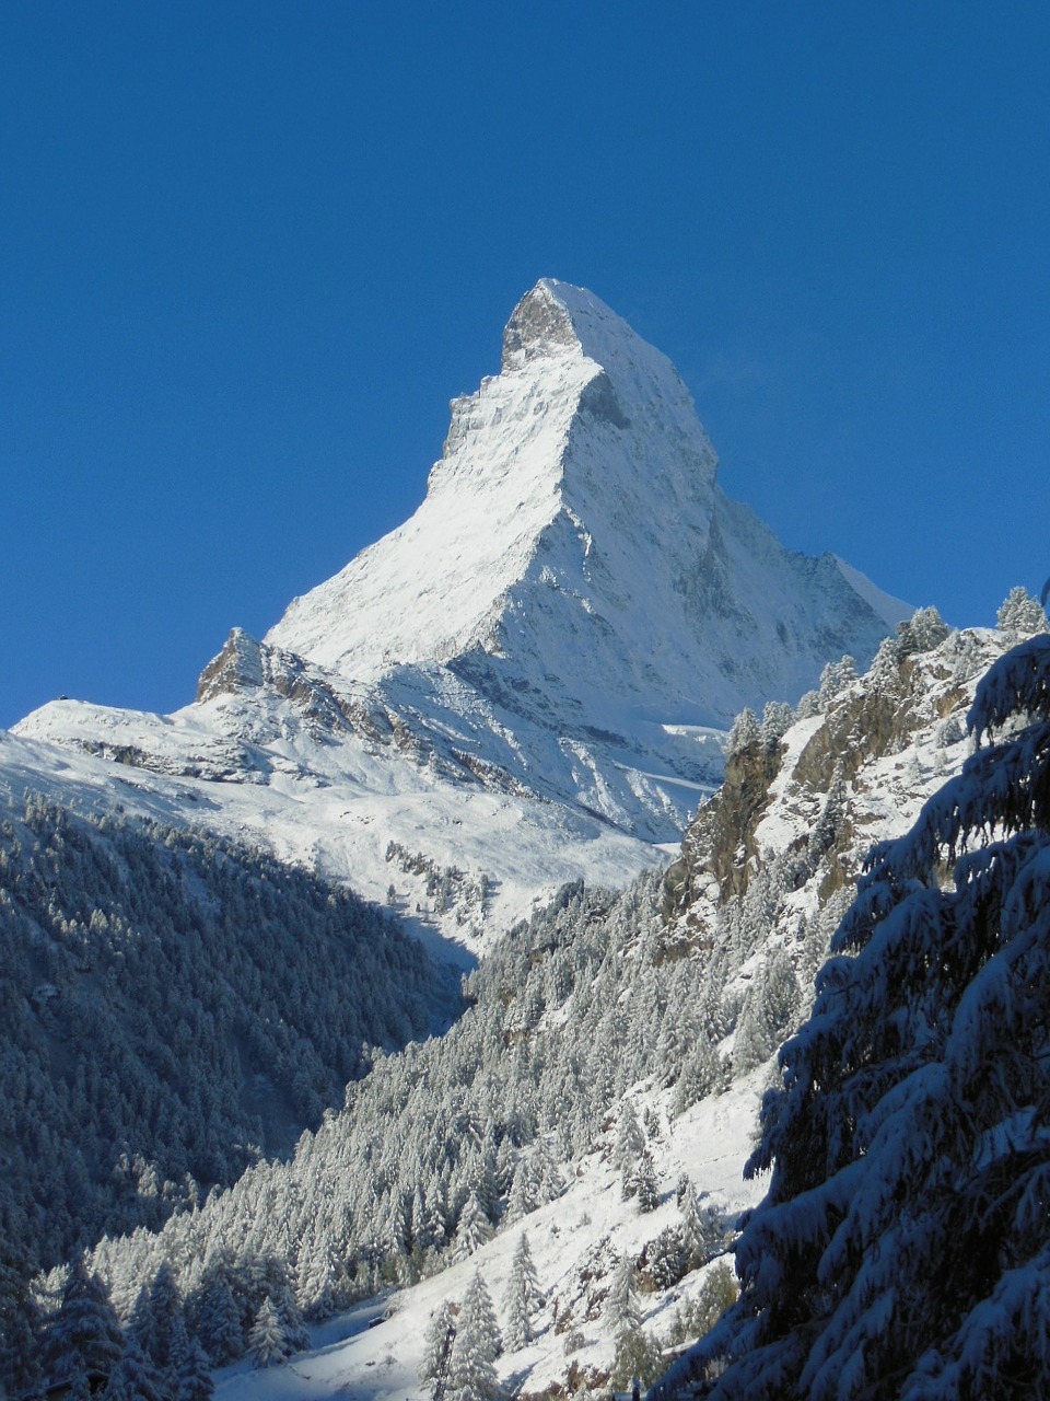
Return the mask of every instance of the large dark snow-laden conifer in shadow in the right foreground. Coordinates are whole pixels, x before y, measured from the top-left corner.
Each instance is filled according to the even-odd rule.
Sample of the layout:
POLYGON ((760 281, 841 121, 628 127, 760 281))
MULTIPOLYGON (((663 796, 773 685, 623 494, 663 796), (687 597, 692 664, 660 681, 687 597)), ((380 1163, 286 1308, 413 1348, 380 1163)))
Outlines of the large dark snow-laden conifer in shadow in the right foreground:
POLYGON ((986 743, 875 848, 781 1052, 741 1299, 658 1395, 1050 1395, 1050 636, 995 663, 986 743))

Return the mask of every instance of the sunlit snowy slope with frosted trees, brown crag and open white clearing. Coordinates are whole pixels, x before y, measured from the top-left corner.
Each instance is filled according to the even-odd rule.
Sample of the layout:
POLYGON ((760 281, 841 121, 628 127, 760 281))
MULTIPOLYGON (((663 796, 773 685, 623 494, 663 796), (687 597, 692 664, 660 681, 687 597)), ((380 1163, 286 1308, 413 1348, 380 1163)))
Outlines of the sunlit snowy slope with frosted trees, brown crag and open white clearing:
POLYGON ((742 1182, 741 1170, 776 1049, 806 1014, 864 853, 962 766, 963 716, 1004 642, 991 630, 948 635, 931 611, 917 615, 865 677, 843 670, 780 733, 731 757, 725 787, 690 825, 665 881, 647 877, 620 897, 581 891, 538 915, 480 967, 476 1002, 442 1042, 384 1062, 344 1114, 304 1138, 294 1163, 259 1170, 192 1220, 174 1219, 148 1254, 102 1247, 104 1275, 130 1307, 129 1262, 169 1258, 188 1262, 179 1269, 192 1295, 209 1241, 251 1259, 283 1250, 294 1220, 288 1258, 304 1297, 314 1297, 318 1261, 330 1264, 336 1240, 336 1257, 354 1261, 358 1278, 367 1265, 370 1279, 403 1285, 333 1320, 318 1351, 287 1369, 221 1374, 220 1394, 231 1398, 353 1390, 421 1401, 428 1391, 414 1367, 434 1310, 462 1300, 475 1272, 498 1310, 522 1230, 546 1306, 533 1341, 497 1360, 508 1390, 535 1395, 581 1380, 608 1390, 617 1335, 609 1296, 624 1258, 644 1290, 643 1335, 657 1346, 682 1341, 673 1316, 699 1299, 711 1267, 679 1265, 671 1283, 654 1272, 685 1238, 680 1177, 729 1223, 760 1195, 763 1182, 742 1182), (654 1164, 648 1212, 640 1194, 620 1189, 627 1105, 654 1164), (479 1243, 463 1203, 484 1195, 486 1157, 503 1185, 489 1192, 497 1231, 479 1243), (522 1215, 519 1182, 529 1173, 549 1181, 554 1157, 560 1185, 522 1215), (413 1257, 405 1223, 419 1240, 426 1229, 416 1195, 447 1198, 449 1212, 441 1244, 413 1257), (363 1327, 384 1314, 379 1327, 363 1327))

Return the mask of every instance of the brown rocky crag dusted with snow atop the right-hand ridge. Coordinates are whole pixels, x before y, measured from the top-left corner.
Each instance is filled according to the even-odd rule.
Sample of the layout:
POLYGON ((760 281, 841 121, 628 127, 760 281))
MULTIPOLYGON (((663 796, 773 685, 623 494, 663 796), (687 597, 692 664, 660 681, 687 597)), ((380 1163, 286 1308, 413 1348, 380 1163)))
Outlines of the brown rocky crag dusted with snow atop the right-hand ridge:
POLYGON ((781 885, 812 885, 823 905, 855 880, 871 842, 962 762, 973 686, 1002 640, 934 629, 942 640, 917 651, 909 626, 867 675, 804 698, 783 736, 756 733, 729 758, 722 787, 700 807, 666 873, 669 930, 703 937, 718 909, 774 862, 781 885))

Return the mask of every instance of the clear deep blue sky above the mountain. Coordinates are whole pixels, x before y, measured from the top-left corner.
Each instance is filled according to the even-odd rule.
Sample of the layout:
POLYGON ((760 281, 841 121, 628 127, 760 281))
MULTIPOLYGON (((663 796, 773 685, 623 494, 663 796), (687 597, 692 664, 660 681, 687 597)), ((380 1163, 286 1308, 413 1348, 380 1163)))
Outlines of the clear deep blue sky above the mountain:
POLYGON ((1050 573, 1046 3, 7 0, 0 113, 0 724, 192 699, 545 275, 785 544, 956 623, 1050 573))

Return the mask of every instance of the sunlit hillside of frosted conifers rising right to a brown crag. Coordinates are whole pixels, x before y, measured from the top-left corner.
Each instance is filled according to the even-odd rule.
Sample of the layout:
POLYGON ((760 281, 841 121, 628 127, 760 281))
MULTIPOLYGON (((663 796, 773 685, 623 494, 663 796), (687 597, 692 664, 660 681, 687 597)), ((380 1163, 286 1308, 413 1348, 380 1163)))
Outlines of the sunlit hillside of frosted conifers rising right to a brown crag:
MULTIPOLYGON (((661 1227, 634 1254, 606 1243, 566 1261, 554 1332, 589 1337, 622 1274, 651 1306, 631 1313, 626 1342, 598 1334, 589 1355, 605 1372, 592 1363, 591 1374, 608 1376, 615 1342, 655 1380, 658 1348, 689 1338, 687 1323, 668 1334, 661 1321, 671 1290, 696 1296, 697 1267, 732 1224, 708 1217, 697 1236, 703 1166, 672 1181, 655 1164, 675 1160, 692 1105, 732 1105, 756 1073, 776 1075, 872 838, 904 831, 959 772, 966 709, 1009 636, 949 633, 925 611, 867 675, 847 658, 795 710, 743 715, 727 783, 666 876, 622 894, 566 887, 470 975, 470 1006, 445 1035, 377 1056, 290 1161, 259 1161, 200 1210, 98 1244, 88 1268, 136 1346, 151 1345, 146 1290, 216 1365, 255 1348, 260 1330, 284 1356, 302 1345, 302 1317, 483 1262, 494 1236, 599 1161, 622 1177, 623 1210, 659 1206, 661 1227), (682 1213, 668 1224, 675 1196, 682 1213)), ((55 1310, 57 1296, 42 1302, 55 1310)), ((563 1358, 560 1345, 546 1356, 545 1384, 570 1386, 563 1358)))

